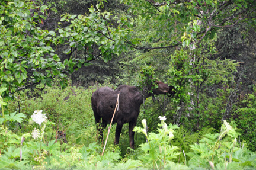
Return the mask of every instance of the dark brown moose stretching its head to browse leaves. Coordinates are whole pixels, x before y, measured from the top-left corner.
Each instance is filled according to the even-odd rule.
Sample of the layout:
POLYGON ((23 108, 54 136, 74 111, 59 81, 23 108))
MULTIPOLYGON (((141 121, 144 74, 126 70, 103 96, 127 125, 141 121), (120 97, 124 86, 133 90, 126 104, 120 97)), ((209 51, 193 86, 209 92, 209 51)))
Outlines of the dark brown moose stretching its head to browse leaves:
MULTIPOLYGON (((173 86, 168 86, 161 81, 156 81, 158 89, 153 89, 153 94, 174 94, 173 86)), ((143 103, 143 95, 135 86, 120 85, 115 91, 109 87, 97 89, 91 97, 92 110, 94 111, 95 123, 101 139, 103 129, 110 123, 116 107, 117 94, 119 97, 119 108, 113 119, 113 123, 117 123, 116 136, 114 144, 119 143, 121 129, 124 123, 129 123, 130 147, 134 149, 134 132, 133 127, 136 126, 137 117, 140 112, 140 105, 143 103), (102 122, 101 122, 102 118, 102 122), (101 127, 100 126, 101 122, 101 127)), ((147 94, 145 98, 153 95, 147 94)))

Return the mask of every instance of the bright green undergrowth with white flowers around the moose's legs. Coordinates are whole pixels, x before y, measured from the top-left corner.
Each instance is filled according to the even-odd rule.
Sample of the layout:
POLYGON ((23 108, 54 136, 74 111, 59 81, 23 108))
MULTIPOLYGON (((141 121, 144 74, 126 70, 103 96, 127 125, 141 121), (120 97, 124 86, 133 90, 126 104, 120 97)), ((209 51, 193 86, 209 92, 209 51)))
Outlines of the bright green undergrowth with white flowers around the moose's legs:
MULTIPOLYGON (((226 121, 220 131, 204 127, 193 132, 167 125, 166 117, 159 117, 160 121, 155 121, 158 126, 150 123, 146 131, 146 120, 140 117, 142 122, 135 127, 135 150, 129 148, 127 124, 119 145, 112 145, 113 126, 101 156, 105 141, 97 140, 91 109, 92 92, 99 86, 110 84, 87 89, 69 85, 65 90, 39 85, 33 92, 15 95, 15 101, 8 105, 0 100, 5 110, 0 118, 0 169, 256 168, 255 153, 226 121), (34 119, 36 113, 44 120, 34 119)), ((107 130, 104 140, 106 135, 107 130)))

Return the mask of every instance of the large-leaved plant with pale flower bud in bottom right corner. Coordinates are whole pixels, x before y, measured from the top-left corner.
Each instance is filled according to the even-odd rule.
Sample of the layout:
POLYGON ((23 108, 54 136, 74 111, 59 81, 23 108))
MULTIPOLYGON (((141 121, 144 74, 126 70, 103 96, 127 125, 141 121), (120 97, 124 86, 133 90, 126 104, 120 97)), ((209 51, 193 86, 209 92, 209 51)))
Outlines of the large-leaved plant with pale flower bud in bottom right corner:
POLYGON ((256 168, 256 154, 249 152, 244 145, 239 148, 237 137, 235 129, 224 121, 220 133, 206 134, 200 143, 190 146, 192 152, 188 154, 191 158, 189 166, 192 169, 256 168))

